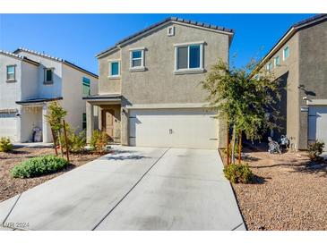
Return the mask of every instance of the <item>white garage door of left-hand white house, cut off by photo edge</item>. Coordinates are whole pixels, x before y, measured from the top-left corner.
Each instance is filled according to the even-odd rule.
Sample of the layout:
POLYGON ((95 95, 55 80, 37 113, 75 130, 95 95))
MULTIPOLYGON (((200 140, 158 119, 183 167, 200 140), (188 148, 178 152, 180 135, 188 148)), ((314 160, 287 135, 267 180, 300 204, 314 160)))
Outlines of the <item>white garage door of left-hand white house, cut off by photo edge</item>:
POLYGON ((18 140, 16 109, 0 110, 0 137, 8 137, 13 142, 18 140))

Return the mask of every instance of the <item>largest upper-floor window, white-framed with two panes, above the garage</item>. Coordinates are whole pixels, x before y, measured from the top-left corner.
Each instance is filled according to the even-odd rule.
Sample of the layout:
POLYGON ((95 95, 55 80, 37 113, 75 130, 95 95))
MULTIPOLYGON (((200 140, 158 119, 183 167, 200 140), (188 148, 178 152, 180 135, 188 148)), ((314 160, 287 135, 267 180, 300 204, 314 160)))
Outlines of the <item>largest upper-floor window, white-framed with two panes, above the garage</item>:
POLYGON ((203 43, 176 45, 175 72, 202 71, 202 57, 203 43))

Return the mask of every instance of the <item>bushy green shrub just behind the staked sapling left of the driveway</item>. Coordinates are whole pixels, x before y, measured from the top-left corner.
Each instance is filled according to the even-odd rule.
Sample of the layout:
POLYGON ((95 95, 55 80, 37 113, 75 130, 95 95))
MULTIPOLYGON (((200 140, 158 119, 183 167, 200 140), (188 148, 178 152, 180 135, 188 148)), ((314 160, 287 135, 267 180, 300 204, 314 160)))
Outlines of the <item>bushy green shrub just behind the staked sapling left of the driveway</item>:
MULTIPOLYGON (((66 132, 67 132, 67 141, 68 148, 71 152, 79 152, 82 151, 86 146, 86 133, 85 131, 81 131, 80 133, 75 133, 72 127, 66 123, 66 132)), ((65 133, 61 135, 61 144, 63 148, 65 147, 65 133)))

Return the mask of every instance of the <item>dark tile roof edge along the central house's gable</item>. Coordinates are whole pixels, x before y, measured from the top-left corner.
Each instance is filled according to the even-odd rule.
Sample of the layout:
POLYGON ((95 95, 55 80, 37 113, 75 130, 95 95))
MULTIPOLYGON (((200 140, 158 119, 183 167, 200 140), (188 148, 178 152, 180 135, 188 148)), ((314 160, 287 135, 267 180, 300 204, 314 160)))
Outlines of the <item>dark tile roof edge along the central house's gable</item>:
POLYGON ((149 31, 149 30, 151 30, 153 28, 156 28, 156 27, 158 27, 158 26, 160 26, 160 25, 162 25, 162 24, 164 24, 164 23, 166 23, 168 21, 176 21, 176 22, 180 22, 180 23, 191 24, 191 25, 194 25, 194 26, 202 27, 202 28, 208 28, 208 29, 211 29, 211 30, 219 30, 219 31, 223 31, 223 32, 228 32, 231 35, 234 35, 234 32, 235 32, 232 29, 228 29, 228 28, 224 28, 224 27, 219 27, 219 26, 216 26, 216 25, 212 25, 212 24, 208 24, 208 23, 203 23, 203 22, 200 22, 200 21, 189 21, 189 20, 185 20, 185 19, 177 18, 177 17, 168 17, 165 20, 159 21, 157 23, 154 23, 151 26, 149 26, 149 27, 147 27, 147 28, 145 28, 143 30, 140 30, 140 31, 134 33, 131 36, 128 36, 126 38, 121 39, 120 41, 118 41, 116 43, 115 46, 108 47, 107 49, 103 50, 98 55, 96 55, 96 57, 98 57, 99 55, 104 55, 104 54, 108 53, 109 51, 114 50, 120 44, 123 44, 126 41, 128 41, 128 40, 130 40, 132 38, 135 38, 135 37, 143 34, 144 32, 147 32, 147 31, 149 31))

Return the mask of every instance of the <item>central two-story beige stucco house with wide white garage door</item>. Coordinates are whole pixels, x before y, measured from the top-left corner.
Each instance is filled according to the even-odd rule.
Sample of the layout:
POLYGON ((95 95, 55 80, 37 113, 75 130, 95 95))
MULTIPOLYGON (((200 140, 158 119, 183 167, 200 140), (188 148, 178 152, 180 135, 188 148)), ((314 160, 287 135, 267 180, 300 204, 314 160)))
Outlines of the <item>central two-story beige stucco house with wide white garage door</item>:
POLYGON ((234 32, 168 18, 97 55, 99 94, 85 97, 87 136, 99 127, 129 146, 222 148, 225 123, 205 108, 200 82, 228 62, 234 32), (99 106, 99 125, 92 120, 99 106))

